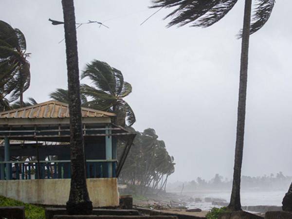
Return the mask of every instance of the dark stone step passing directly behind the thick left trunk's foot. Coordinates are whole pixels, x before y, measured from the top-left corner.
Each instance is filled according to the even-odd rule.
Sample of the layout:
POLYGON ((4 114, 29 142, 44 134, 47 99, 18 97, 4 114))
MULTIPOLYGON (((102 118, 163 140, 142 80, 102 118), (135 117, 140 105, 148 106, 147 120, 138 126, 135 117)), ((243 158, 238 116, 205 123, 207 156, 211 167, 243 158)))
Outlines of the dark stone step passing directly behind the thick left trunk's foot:
MULTIPOLYGON (((66 208, 46 208, 46 219, 53 219, 54 215, 67 215, 66 208)), ((101 209, 94 208, 92 215, 113 215, 113 216, 138 216, 137 210, 118 210, 118 209, 101 209)))

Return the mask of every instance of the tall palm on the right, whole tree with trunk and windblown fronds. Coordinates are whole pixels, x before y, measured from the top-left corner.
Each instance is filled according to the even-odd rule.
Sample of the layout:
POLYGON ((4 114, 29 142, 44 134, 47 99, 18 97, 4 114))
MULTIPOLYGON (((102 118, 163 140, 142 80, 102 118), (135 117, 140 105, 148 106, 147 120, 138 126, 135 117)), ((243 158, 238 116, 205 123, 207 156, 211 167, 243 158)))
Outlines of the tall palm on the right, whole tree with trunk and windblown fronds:
MULTIPOLYGON (((152 7, 176 9, 165 18, 171 17, 168 26, 183 26, 191 23, 193 27, 209 27, 223 18, 237 3, 237 0, 152 0, 152 7)), ((229 209, 241 210, 240 204, 240 176, 243 155, 245 106, 247 89, 247 69, 249 36, 259 30, 268 21, 272 13, 275 0, 254 0, 255 11, 251 23, 252 0, 245 0, 240 58, 240 79, 237 109, 237 135, 235 146, 235 162, 233 186, 229 209)))

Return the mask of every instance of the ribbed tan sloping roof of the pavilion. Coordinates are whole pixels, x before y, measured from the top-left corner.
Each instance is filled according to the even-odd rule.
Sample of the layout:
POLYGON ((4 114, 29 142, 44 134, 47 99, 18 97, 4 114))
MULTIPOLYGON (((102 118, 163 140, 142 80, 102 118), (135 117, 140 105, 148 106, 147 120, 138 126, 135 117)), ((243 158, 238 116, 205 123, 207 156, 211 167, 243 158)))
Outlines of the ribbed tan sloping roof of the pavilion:
MULTIPOLYGON (((82 117, 110 117, 114 113, 100 110, 81 108, 82 117)), ((68 118, 69 105, 58 101, 48 101, 37 105, 23 107, 15 110, 0 112, 0 118, 68 118)))

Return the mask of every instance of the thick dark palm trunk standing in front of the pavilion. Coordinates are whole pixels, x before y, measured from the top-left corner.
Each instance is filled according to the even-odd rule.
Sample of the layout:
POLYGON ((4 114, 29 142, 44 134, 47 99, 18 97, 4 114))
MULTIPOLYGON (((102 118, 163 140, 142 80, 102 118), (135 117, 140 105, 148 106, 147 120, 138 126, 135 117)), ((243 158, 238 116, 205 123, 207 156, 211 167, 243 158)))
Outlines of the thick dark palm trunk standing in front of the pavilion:
POLYGON ((82 114, 78 68, 77 39, 73 0, 62 0, 67 56, 69 113, 70 113, 70 151, 71 188, 67 212, 71 215, 89 215, 92 212, 85 172, 84 141, 82 133, 82 114))

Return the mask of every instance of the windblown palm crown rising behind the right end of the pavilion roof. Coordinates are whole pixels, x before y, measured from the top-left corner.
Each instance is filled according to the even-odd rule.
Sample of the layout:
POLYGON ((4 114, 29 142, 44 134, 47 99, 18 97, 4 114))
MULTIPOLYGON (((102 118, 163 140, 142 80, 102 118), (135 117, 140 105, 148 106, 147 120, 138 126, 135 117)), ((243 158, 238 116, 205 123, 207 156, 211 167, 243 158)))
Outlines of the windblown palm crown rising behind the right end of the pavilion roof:
POLYGON ((87 64, 81 78, 89 77, 94 86, 81 85, 81 92, 90 97, 88 107, 96 110, 112 110, 117 114, 115 123, 131 126, 136 118, 133 110, 124 100, 132 92, 132 86, 124 81, 121 71, 106 62, 93 60, 87 64))

